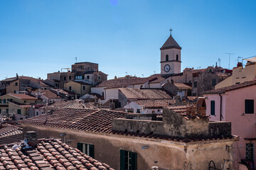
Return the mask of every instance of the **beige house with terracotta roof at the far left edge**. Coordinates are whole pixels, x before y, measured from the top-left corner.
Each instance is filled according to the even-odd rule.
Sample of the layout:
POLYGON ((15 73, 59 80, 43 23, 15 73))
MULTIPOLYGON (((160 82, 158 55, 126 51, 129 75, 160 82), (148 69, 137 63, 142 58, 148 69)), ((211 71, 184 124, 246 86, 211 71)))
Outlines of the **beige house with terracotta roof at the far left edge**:
POLYGON ((16 120, 28 117, 31 103, 41 103, 41 100, 26 94, 6 94, 0 96, 0 112, 5 116, 15 116, 16 120))

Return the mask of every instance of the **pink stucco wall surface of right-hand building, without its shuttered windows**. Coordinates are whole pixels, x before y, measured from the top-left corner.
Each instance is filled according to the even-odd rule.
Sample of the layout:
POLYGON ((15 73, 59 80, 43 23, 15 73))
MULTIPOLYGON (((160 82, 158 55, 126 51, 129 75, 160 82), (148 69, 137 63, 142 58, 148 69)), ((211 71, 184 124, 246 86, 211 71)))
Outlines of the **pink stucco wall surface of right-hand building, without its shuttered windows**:
MULTIPOLYGON (((237 162, 240 159, 245 159, 245 144, 250 141, 245 141, 245 137, 255 137, 256 128, 256 110, 254 114, 245 113, 245 99, 254 100, 254 108, 256 108, 256 86, 249 86, 234 91, 228 91, 223 96, 222 114, 224 121, 230 121, 232 123, 232 134, 239 135, 240 141, 236 142, 235 157, 237 162)), ((206 114, 210 115, 210 101, 215 100, 215 114, 210 115, 210 120, 220 120, 220 96, 218 94, 204 95, 206 98, 206 114)), ((256 152, 256 149, 254 149, 256 152)), ((255 160, 256 162, 256 160, 255 160)))

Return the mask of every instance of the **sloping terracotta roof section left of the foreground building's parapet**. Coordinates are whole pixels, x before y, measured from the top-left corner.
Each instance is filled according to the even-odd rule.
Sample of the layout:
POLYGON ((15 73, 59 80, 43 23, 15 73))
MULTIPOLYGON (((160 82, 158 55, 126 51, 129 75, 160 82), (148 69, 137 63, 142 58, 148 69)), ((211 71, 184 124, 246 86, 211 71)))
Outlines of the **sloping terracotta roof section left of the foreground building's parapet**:
POLYGON ((126 114, 118 111, 60 108, 52 115, 48 115, 47 121, 46 115, 39 115, 20 120, 19 123, 110 133, 112 131, 112 119, 126 118, 126 114))

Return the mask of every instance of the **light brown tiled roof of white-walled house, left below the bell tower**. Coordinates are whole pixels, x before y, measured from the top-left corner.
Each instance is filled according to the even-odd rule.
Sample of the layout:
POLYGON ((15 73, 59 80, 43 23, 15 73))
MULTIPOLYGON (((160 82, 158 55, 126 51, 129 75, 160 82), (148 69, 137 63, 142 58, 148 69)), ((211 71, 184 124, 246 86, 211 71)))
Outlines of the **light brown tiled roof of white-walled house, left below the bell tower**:
POLYGON ((171 99, 162 89, 119 88, 119 91, 129 99, 171 99))

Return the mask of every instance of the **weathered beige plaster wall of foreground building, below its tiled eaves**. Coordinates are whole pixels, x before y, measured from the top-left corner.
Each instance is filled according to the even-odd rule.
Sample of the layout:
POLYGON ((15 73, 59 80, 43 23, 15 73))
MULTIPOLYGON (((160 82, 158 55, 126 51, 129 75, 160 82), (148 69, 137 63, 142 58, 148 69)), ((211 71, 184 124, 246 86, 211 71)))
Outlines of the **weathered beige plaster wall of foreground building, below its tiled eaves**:
MULTIPOLYGON (((36 130, 39 138, 54 137, 70 142, 72 147, 77 147, 78 142, 95 146, 95 159, 109 164, 114 169, 119 169, 120 149, 137 152, 137 169, 151 169, 159 166, 162 169, 208 169, 210 160, 221 169, 223 159, 230 159, 226 145, 232 145, 232 140, 215 140, 204 142, 172 142, 167 140, 144 139, 142 137, 126 137, 124 135, 93 134, 78 130, 65 130, 48 127, 23 125, 23 131, 36 130), (65 133, 65 140, 60 133, 65 133), (142 149, 147 146, 148 149, 142 149), (158 162, 155 164, 154 162, 158 162)), ((232 164, 228 163, 230 169, 232 164)))

